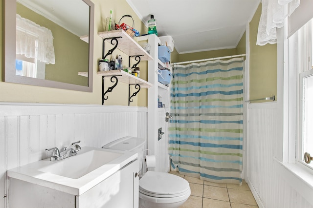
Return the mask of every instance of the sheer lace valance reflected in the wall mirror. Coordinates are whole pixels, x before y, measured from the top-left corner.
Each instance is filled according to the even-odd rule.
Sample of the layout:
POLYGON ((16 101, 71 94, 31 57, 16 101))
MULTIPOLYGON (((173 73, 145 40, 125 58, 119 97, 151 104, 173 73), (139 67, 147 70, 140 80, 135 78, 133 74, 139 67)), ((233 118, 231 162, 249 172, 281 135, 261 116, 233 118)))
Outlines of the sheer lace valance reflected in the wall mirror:
POLYGON ((16 15, 16 54, 54 64, 54 47, 51 30, 16 15))

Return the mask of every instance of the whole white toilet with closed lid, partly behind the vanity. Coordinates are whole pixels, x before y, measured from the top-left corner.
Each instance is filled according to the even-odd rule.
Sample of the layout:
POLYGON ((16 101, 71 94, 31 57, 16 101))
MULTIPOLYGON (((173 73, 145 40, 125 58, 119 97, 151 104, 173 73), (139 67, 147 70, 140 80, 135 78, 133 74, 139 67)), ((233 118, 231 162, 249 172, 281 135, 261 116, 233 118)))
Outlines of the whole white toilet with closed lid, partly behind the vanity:
MULTIPOLYGON (((123 137, 102 148, 137 151, 139 170, 142 172, 144 144, 144 139, 123 137)), ((139 179, 139 208, 178 208, 190 193, 185 179, 170 173, 147 171, 139 179)))

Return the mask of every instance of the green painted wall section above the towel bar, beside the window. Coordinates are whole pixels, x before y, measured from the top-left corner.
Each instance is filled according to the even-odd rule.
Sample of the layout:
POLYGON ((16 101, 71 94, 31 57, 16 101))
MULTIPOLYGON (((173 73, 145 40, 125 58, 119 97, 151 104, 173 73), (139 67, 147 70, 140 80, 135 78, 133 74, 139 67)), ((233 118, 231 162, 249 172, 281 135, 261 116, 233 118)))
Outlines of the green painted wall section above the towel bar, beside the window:
POLYGON ((277 45, 256 45, 260 17, 261 4, 250 22, 250 100, 277 94, 277 45))

